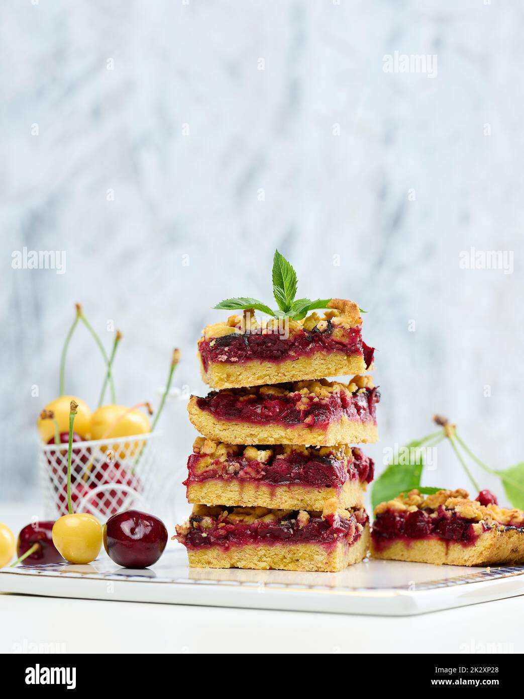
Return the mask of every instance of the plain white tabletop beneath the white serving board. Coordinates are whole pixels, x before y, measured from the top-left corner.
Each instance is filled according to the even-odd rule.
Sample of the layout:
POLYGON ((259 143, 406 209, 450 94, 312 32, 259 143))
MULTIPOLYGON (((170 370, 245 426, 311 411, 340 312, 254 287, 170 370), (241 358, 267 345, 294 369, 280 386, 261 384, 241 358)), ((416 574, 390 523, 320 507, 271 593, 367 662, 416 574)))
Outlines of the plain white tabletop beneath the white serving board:
MULTIPOLYGON (((4 504, 0 521, 34 511, 4 504)), ((523 616, 524 596, 399 618, 0 594, 0 653, 522 653, 523 616)))

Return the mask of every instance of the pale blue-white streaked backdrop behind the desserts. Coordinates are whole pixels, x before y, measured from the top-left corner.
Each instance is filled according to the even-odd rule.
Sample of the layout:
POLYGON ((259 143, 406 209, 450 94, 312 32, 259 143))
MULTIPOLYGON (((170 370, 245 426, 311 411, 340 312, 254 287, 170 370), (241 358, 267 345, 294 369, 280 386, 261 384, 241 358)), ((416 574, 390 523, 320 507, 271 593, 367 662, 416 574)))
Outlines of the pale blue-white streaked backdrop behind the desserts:
MULTIPOLYGON (((173 346, 175 383, 203 391, 212 305, 269 301, 276 246, 300 296, 369 311, 379 465, 435 412, 493 467, 521 461, 523 30, 500 0, 4 1, 0 498, 37 488, 74 301, 108 347, 108 320, 124 333, 119 402, 158 401, 173 346), (437 55, 437 77, 384 73, 395 51, 437 55), (14 270, 24 246, 65 250, 66 273, 14 270), (471 246, 514 273, 460 269, 471 246)), ((67 389, 93 405, 102 375, 80 328, 67 389)), ((194 438, 182 402, 163 428, 167 474, 194 438)), ((467 485, 449 445, 425 484, 467 485)))

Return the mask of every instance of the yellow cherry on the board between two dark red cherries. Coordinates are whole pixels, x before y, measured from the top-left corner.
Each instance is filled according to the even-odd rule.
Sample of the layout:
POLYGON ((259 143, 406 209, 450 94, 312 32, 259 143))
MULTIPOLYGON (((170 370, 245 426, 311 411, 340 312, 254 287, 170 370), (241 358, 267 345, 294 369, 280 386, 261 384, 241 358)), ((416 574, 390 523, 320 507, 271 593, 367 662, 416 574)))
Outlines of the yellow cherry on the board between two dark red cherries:
POLYGON ((52 530, 53 544, 69 563, 91 563, 102 547, 102 527, 93 514, 64 514, 52 530))

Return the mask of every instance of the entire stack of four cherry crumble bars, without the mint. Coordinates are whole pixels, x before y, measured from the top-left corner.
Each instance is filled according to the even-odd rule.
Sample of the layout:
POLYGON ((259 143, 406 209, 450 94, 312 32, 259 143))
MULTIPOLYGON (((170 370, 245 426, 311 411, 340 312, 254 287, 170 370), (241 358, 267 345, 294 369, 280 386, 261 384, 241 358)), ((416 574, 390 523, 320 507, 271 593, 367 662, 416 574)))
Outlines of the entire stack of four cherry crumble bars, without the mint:
POLYGON ((374 466, 349 445, 377 441, 379 392, 361 324, 356 303, 333 299, 284 326, 247 310, 204 329, 213 390, 189 401, 203 436, 184 482, 193 512, 176 535, 189 565, 335 571, 366 556, 374 466))

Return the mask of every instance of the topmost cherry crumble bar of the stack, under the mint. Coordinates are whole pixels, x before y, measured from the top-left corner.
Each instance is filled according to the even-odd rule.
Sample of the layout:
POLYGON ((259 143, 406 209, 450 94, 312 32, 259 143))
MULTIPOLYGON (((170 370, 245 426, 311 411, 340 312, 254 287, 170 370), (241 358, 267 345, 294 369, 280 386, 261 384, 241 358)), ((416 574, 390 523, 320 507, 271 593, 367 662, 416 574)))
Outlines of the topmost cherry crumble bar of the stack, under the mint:
POLYGON ((198 340, 204 382, 230 389, 372 369, 374 349, 362 340, 358 305, 340 298, 328 305, 323 316, 313 312, 303 320, 258 322, 246 311, 208 325, 198 340))

